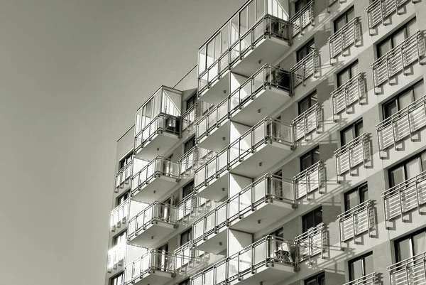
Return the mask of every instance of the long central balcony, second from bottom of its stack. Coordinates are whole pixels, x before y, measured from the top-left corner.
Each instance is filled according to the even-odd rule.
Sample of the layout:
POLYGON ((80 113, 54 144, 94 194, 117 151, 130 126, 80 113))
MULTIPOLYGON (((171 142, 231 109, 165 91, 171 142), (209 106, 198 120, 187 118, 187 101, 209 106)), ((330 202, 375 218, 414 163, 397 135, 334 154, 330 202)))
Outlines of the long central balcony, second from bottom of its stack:
POLYGON ((226 227, 249 233, 268 227, 296 208, 294 190, 291 181, 266 174, 195 220, 194 246, 218 254, 228 243, 226 227))

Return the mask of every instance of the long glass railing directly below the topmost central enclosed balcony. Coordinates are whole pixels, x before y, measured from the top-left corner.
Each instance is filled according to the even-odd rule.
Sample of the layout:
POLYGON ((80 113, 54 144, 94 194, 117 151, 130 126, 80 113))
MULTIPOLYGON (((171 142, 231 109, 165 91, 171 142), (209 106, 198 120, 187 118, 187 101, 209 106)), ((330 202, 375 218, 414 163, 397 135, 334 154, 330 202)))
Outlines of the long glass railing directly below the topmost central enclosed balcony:
POLYGON ((211 109, 204 117, 197 122, 196 137, 200 141, 209 132, 217 127, 217 124, 232 117, 233 114, 243 109, 256 95, 268 87, 277 88, 286 92, 291 92, 290 72, 275 68, 271 65, 263 65, 240 87, 226 97, 216 107, 211 109))

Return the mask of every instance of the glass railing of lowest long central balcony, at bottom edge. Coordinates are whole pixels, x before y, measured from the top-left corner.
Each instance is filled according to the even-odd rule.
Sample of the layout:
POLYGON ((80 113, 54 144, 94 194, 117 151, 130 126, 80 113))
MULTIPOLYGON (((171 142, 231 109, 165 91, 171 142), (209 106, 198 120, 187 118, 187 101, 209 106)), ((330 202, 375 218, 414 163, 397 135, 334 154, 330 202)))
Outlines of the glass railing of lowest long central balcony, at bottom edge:
MULTIPOLYGON (((234 284, 231 282, 256 274, 257 269, 273 268, 272 264, 275 264, 275 267, 276 264, 283 264, 295 271, 297 269, 295 243, 271 235, 263 237, 240 252, 192 276, 191 285, 234 284)), ((275 281, 280 281, 279 278, 283 279, 285 275, 275 281)))

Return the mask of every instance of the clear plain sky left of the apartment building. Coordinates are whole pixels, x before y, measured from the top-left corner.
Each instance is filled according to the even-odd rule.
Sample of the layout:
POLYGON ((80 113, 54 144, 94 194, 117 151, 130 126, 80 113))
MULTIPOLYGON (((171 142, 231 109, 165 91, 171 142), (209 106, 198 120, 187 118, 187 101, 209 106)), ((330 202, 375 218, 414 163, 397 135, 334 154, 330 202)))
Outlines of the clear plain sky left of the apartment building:
POLYGON ((0 284, 103 284, 116 140, 244 2, 0 0, 0 284))

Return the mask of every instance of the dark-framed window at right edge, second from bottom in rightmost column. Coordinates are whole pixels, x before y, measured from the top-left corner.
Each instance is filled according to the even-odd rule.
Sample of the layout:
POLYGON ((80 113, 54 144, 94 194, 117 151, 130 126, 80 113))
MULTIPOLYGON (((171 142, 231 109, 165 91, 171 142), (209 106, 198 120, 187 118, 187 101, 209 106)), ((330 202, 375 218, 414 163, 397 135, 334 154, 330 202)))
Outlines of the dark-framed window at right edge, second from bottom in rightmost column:
POLYGON ((426 171, 426 151, 408 158, 403 163, 389 169, 389 187, 392 188, 426 171))

